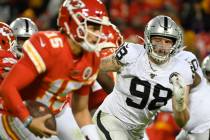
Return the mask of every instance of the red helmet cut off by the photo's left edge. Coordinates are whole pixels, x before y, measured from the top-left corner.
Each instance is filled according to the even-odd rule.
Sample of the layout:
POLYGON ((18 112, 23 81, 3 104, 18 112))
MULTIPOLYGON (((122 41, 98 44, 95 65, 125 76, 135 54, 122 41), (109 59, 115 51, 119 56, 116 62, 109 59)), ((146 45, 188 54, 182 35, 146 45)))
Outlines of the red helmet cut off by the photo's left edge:
POLYGON ((6 23, 0 22, 0 49, 9 50, 15 42, 12 29, 6 23))

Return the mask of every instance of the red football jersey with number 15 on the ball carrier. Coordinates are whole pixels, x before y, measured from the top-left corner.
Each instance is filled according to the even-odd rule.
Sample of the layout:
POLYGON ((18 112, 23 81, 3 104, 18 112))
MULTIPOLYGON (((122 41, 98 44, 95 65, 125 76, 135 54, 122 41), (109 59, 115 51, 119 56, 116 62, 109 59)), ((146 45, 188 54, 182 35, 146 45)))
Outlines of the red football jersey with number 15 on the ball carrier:
POLYGON ((88 94, 89 86, 97 77, 99 54, 84 51, 76 58, 66 36, 60 32, 39 32, 24 43, 23 50, 24 56, 5 79, 3 93, 6 99, 10 99, 6 102, 7 108, 23 120, 28 113, 26 109, 21 111, 12 105, 16 102, 19 108, 24 108, 21 99, 15 96, 17 91, 9 84, 19 89, 23 100, 38 100, 52 111, 58 111, 68 93, 88 94), (12 104, 9 103, 11 100, 12 104))

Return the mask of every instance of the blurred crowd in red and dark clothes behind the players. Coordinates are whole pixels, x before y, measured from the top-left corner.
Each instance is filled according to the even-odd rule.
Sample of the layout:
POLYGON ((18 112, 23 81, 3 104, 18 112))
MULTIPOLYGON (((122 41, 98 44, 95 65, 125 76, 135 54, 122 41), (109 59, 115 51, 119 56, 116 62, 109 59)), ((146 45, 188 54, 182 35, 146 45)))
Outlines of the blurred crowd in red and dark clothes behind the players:
MULTIPOLYGON (((154 16, 172 17, 184 30, 185 45, 201 61, 210 54, 210 0, 102 0, 111 21, 127 41, 142 43, 146 23, 154 16)), ((91 0, 90 0, 91 2, 91 0)), ((0 21, 29 17, 39 30, 56 29, 62 0, 0 0, 0 21)))

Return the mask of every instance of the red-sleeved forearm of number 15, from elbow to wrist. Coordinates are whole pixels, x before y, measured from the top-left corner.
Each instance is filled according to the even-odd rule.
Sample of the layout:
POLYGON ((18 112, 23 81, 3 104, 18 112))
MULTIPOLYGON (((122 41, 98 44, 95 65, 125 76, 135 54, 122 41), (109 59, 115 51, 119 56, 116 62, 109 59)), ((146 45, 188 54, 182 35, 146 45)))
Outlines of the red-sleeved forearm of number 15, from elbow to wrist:
POLYGON ((0 96, 2 96, 8 112, 17 116, 21 121, 25 121, 28 118, 29 112, 15 88, 3 84, 0 87, 0 96))

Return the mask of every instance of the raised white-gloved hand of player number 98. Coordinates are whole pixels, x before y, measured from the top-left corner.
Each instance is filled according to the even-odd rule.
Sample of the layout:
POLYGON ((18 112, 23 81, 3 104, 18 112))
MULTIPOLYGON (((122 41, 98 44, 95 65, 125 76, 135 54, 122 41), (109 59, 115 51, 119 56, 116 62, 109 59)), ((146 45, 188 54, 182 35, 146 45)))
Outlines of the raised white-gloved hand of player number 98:
POLYGON ((181 111, 184 109, 184 97, 185 97, 186 84, 184 82, 184 79, 178 73, 173 73, 170 76, 169 80, 173 85, 173 96, 176 101, 176 108, 177 110, 181 111))

